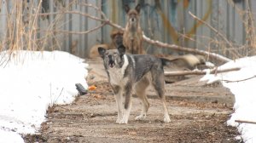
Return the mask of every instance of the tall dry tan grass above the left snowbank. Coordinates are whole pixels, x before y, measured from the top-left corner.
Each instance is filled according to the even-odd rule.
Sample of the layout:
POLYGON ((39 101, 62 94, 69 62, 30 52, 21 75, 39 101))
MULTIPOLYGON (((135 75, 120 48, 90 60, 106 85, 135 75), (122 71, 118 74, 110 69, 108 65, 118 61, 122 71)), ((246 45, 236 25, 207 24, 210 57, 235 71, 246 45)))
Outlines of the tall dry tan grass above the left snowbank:
MULTIPOLYGON (((2 1, 0 2, 2 3, 2 1)), ((49 21, 49 17, 47 19, 47 16, 41 15, 44 11, 42 10, 42 0, 38 3, 9 0, 6 3, 2 3, 2 8, 5 7, 5 9, 2 9, 0 15, 0 19, 6 21, 4 31, 1 31, 0 51, 8 50, 8 53, 11 54, 15 50, 60 49, 59 33, 53 31, 64 25, 63 14, 55 14, 49 21), (8 8, 8 4, 12 6, 11 9, 8 8), (49 24, 42 28, 39 27, 40 21, 49 24)))

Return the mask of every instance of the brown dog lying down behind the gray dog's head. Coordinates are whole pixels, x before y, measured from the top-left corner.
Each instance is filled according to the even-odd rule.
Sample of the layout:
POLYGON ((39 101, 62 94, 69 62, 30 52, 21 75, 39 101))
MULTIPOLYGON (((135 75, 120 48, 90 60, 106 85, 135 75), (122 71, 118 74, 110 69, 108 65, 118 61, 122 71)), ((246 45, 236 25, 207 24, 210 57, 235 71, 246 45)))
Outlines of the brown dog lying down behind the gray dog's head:
POLYGON ((102 47, 104 49, 117 49, 119 45, 123 44, 123 31, 112 31, 110 34, 111 43, 96 44, 90 49, 90 58, 100 57, 98 53, 98 48, 102 47))

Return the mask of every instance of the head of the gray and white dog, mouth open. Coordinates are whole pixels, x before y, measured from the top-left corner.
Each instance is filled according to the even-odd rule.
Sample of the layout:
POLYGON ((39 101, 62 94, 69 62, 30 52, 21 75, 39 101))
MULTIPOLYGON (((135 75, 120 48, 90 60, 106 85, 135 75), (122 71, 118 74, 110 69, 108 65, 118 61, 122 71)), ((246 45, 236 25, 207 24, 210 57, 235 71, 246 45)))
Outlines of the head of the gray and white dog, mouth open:
POLYGON ((98 52, 101 55, 104 66, 106 69, 110 68, 120 68, 124 64, 124 54, 125 46, 120 45, 118 49, 104 49, 102 47, 98 48, 98 52))

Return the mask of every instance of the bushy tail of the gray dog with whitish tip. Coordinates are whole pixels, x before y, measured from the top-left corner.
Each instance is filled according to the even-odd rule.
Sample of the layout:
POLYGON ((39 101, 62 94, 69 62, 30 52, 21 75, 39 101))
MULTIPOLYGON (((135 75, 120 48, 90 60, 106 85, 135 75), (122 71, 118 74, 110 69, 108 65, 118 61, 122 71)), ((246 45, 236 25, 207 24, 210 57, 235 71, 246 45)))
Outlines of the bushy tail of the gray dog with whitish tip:
POLYGON ((201 55, 186 54, 173 59, 160 58, 163 66, 177 66, 193 70, 198 65, 205 65, 206 60, 201 55))

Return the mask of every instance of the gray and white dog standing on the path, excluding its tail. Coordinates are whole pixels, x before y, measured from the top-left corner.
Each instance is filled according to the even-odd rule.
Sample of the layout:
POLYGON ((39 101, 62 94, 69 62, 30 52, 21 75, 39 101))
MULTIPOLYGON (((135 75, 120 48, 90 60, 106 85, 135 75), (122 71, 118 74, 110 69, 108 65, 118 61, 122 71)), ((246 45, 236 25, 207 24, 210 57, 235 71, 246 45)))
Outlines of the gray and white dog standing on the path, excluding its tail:
POLYGON ((131 112, 131 96, 135 91, 143 103, 143 110, 136 120, 143 120, 148 112, 146 89, 152 84, 164 107, 164 122, 170 123, 165 100, 165 80, 163 61, 149 54, 125 54, 125 47, 118 49, 98 48, 108 82, 111 84, 118 107, 116 123, 128 123, 131 112), (125 98, 123 101, 123 97, 125 98))

